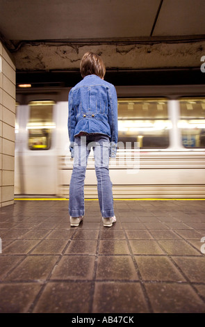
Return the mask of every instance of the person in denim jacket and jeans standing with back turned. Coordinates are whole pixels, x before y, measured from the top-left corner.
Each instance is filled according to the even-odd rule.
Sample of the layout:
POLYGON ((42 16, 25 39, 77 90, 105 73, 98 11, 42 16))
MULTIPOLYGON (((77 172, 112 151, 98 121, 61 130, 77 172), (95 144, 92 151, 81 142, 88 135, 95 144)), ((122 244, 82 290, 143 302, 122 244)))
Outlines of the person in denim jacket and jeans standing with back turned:
POLYGON ((68 131, 74 168, 69 188, 71 225, 79 225, 84 216, 84 179, 90 144, 95 155, 99 205, 105 226, 116 221, 108 159, 117 151, 117 94, 104 81, 104 63, 92 52, 81 61, 80 81, 69 92, 68 131), (110 146, 111 145, 111 146, 110 146), (104 181, 104 182, 103 182, 104 181))

